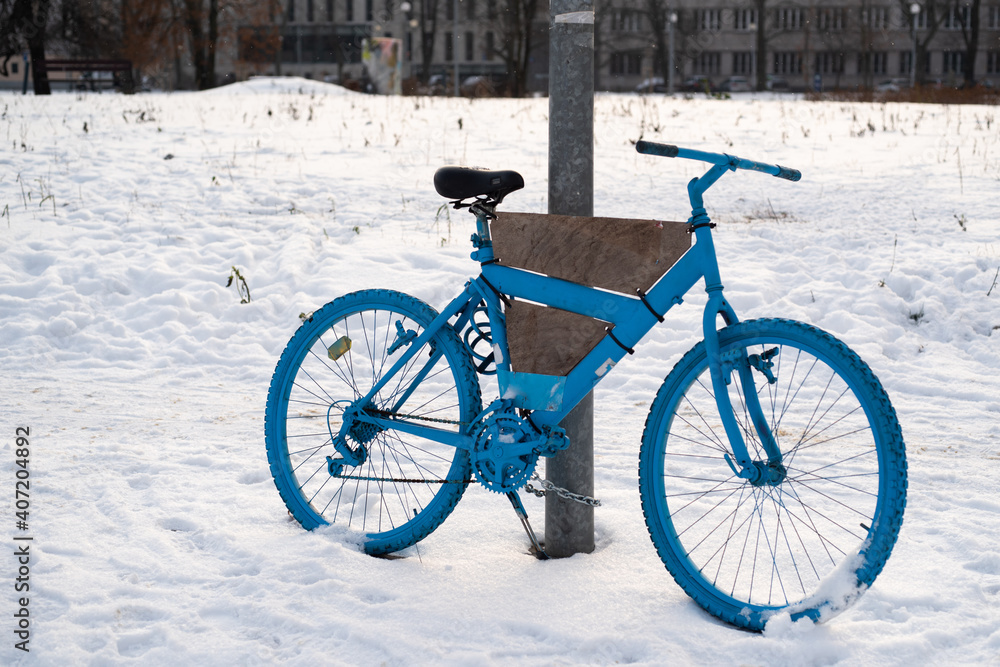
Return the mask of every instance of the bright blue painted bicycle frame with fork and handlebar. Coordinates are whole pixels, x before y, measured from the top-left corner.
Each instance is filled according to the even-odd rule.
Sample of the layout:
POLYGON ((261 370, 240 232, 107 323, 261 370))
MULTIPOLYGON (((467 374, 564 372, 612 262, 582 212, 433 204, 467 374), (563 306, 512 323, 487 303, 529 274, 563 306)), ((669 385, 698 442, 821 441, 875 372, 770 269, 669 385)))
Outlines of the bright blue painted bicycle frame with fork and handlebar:
MULTIPOLYGON (((556 427, 626 354, 633 352, 632 348, 638 344, 643 336, 659 321, 662 321, 662 317, 673 306, 682 303, 684 295, 699 280, 704 279, 705 290, 708 293, 708 302, 702 318, 705 346, 719 415, 723 421, 737 465, 734 465, 728 456, 727 461, 735 474, 755 484, 764 484, 769 480, 778 479, 781 475, 779 472, 781 455, 757 402, 750 363, 748 363, 745 354, 737 355, 731 359, 723 359, 720 355, 718 318, 721 316, 726 325, 735 324, 739 320, 723 296, 718 259, 712 240, 711 230, 714 225, 705 212, 703 195, 727 171, 735 171, 736 169, 762 171, 788 180, 798 180, 799 174, 785 167, 752 162, 723 154, 690 151, 675 146, 639 142, 636 148, 640 152, 649 154, 686 157, 713 164, 704 175, 693 179, 688 184, 688 197, 692 208, 688 222, 690 231, 695 235, 695 243, 645 295, 637 297, 609 292, 496 263, 489 230, 489 220, 493 217, 493 208, 482 202, 473 204, 472 210, 476 213, 478 232, 473 236, 473 243, 477 250, 473 252, 472 257, 480 262, 481 274, 466 284, 462 293, 441 311, 440 315, 423 333, 409 341, 408 349, 393 367, 366 396, 357 400, 354 405, 370 404, 389 380, 400 369, 409 364, 417 351, 426 345, 442 327, 452 326, 461 333, 469 324, 473 315, 472 311, 481 302, 485 302, 490 321, 500 401, 507 401, 508 407, 531 410, 531 422, 537 428, 556 427), (514 372, 510 366, 506 322, 501 308, 501 299, 505 299, 507 296, 607 322, 609 325, 607 334, 566 376, 514 372), (451 322, 452 318, 456 318, 454 323, 451 322), (737 371, 744 388, 744 395, 747 397, 750 409, 750 420, 767 453, 767 462, 754 461, 751 458, 741 426, 734 415, 727 389, 730 374, 734 370, 737 371)), ((414 380, 414 386, 434 366, 439 355, 439 352, 431 354, 425 362, 423 370, 418 373, 414 380)), ((475 446, 475 437, 471 433, 473 424, 465 425, 462 430, 455 432, 408 420, 400 414, 405 412, 402 410, 402 406, 408 397, 409 393, 403 392, 396 404, 385 411, 386 413, 397 413, 398 416, 367 414, 358 407, 353 409, 352 416, 358 421, 374 424, 381 429, 398 430, 442 444, 467 450, 473 449, 475 446)), ((496 404, 487 407, 483 415, 480 415, 474 423, 497 407, 496 404)), ((345 419, 344 421, 345 428, 347 428, 351 420, 345 419)), ((360 461, 358 457, 363 456, 363 454, 359 455, 350 450, 343 435, 345 434, 342 433, 341 437, 334 439, 337 449, 344 455, 346 463, 356 464, 360 461)))

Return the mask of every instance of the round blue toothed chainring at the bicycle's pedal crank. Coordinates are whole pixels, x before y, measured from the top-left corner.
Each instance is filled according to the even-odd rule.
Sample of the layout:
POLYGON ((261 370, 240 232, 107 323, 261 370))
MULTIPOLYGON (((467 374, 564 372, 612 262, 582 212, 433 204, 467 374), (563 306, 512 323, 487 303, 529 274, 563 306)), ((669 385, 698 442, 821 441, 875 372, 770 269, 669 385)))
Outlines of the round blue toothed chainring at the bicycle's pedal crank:
POLYGON ((533 429, 510 413, 493 414, 476 432, 472 466, 476 479, 495 493, 510 493, 527 484, 538 462, 533 429))

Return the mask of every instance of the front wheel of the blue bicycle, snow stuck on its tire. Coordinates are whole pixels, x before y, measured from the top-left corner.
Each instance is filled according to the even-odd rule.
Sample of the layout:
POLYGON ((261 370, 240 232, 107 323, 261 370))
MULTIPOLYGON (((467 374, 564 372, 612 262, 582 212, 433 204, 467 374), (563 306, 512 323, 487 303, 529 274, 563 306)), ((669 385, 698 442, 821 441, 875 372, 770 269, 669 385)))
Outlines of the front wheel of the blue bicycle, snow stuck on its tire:
MULTIPOLYGON (((781 611, 825 620, 871 585, 899 533, 906 458, 895 410, 868 366, 815 327, 751 320, 719 339, 724 363, 750 360, 783 474, 754 484, 726 461, 699 343, 646 421, 639 485, 650 536, 677 583, 729 623, 763 630, 781 611)), ((747 388, 737 372, 729 380, 750 456, 766 463, 747 388)))

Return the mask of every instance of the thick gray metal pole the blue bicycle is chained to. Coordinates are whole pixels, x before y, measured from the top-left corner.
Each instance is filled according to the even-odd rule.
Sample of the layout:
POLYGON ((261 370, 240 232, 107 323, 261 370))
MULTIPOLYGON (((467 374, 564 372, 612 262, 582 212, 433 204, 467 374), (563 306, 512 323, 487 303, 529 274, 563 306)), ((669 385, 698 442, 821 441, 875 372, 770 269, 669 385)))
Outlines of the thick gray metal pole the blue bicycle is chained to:
MULTIPOLYGON (((594 3, 551 0, 549 36, 549 213, 594 214, 594 3)), ((547 459, 546 478, 594 495, 594 395, 562 422, 568 449, 547 459)), ((594 550, 594 508, 548 493, 545 551, 553 558, 594 550)))

